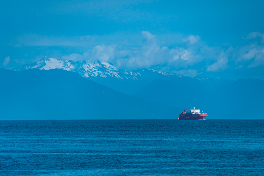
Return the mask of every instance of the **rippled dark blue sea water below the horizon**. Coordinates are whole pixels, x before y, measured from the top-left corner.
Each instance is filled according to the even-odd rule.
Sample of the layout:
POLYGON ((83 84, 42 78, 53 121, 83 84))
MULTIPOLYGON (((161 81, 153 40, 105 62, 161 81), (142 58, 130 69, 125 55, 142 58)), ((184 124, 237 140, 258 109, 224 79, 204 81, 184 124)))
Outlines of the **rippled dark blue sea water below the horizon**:
POLYGON ((0 121, 0 175, 263 175, 264 120, 0 121))

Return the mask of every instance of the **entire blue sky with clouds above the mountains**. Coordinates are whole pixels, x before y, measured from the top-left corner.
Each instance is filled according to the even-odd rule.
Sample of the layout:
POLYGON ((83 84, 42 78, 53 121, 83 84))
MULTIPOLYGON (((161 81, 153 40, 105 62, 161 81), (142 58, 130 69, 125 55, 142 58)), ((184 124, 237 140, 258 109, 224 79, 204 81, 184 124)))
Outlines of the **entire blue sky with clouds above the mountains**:
POLYGON ((0 67, 44 56, 264 80, 264 1, 3 1, 0 67))

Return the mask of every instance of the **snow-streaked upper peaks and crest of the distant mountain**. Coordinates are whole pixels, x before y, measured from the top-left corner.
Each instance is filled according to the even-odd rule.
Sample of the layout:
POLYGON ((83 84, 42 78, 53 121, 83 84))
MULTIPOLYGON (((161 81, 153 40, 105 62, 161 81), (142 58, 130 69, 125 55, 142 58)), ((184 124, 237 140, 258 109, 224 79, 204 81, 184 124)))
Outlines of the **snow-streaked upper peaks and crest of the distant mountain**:
POLYGON ((107 62, 101 61, 94 61, 91 62, 89 60, 77 61, 73 62, 72 60, 62 60, 62 59, 54 59, 49 57, 44 57, 38 62, 34 62, 32 64, 23 65, 14 71, 23 71, 32 68, 37 68, 40 70, 50 70, 50 69, 63 69, 67 71, 77 72, 81 76, 87 79, 98 79, 98 78, 108 78, 112 77, 118 80, 142 80, 145 77, 141 75, 142 72, 145 70, 148 72, 154 72, 153 74, 158 75, 175 75, 183 77, 182 75, 177 75, 169 72, 161 72, 151 69, 140 69, 135 71, 126 71, 126 70, 119 70, 113 65, 110 65, 107 62))

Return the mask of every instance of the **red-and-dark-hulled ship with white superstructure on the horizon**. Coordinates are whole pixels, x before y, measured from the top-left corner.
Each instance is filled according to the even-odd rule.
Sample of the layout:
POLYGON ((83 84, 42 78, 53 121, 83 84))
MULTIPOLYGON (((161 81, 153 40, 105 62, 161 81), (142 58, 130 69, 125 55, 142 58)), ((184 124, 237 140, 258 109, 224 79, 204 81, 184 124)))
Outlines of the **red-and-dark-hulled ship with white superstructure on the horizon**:
POLYGON ((206 119, 206 116, 208 116, 207 114, 203 113, 202 110, 202 114, 200 113, 200 109, 195 109, 195 107, 193 107, 194 109, 191 108, 190 111, 187 111, 187 109, 183 109, 183 112, 181 114, 179 114, 179 118, 180 120, 204 120, 206 119))

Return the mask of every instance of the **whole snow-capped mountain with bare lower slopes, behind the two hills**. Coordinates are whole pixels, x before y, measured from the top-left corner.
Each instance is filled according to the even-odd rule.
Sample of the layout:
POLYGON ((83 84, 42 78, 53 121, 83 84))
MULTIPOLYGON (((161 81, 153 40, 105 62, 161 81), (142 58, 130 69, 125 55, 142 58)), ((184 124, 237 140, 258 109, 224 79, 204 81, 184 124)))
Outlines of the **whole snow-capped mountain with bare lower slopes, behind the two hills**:
MULTIPOLYGON (((197 77, 187 77, 170 72, 157 71, 152 69, 138 69, 133 71, 119 70, 115 66, 101 61, 91 62, 89 60, 77 61, 62 60, 44 57, 38 62, 23 65, 14 71, 23 71, 28 69, 50 70, 63 69, 76 72, 86 79, 93 80, 99 84, 103 84, 111 89, 126 94, 134 94, 144 86, 150 84, 155 79, 163 79, 183 84, 186 82, 197 82, 198 84, 208 84, 210 87, 229 84, 220 79, 206 79, 197 77)), ((198 85, 197 84, 197 85, 198 85)))

